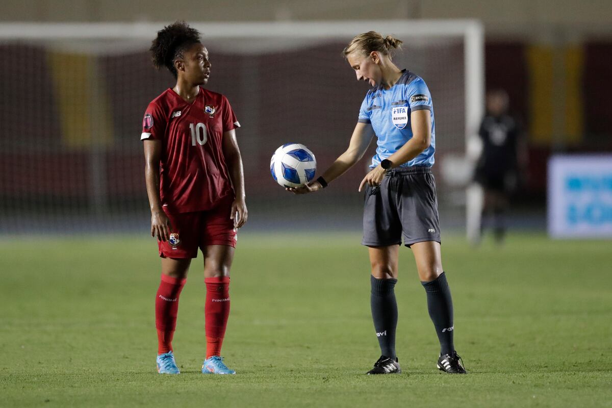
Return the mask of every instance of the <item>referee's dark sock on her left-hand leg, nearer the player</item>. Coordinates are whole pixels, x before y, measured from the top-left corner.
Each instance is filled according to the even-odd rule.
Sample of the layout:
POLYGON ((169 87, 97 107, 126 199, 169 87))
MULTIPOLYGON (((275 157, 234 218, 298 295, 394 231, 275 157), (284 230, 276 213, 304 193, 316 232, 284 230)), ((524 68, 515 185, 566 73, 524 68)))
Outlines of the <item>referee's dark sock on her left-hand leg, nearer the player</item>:
POLYGON ((376 279, 370 275, 372 291, 370 306, 372 319, 381 346, 381 355, 395 360, 395 328, 397 328, 397 302, 395 284, 397 279, 376 279))

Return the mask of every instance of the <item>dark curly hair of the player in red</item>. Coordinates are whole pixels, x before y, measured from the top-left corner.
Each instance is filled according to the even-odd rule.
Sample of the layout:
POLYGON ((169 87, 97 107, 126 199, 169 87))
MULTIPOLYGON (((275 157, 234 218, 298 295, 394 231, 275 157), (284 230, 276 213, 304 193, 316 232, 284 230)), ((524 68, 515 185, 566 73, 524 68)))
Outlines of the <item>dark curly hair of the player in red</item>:
POLYGON ((156 69, 166 67, 174 78, 178 78, 174 61, 184 56, 185 50, 200 42, 200 31, 188 26, 185 21, 176 21, 157 32, 151 42, 151 57, 156 69))

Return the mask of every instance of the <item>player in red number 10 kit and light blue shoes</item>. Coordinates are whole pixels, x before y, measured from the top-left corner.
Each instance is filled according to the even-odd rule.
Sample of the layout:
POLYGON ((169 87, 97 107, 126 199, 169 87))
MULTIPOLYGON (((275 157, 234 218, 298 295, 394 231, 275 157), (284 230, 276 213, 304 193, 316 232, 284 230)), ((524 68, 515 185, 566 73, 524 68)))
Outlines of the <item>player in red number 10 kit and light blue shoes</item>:
POLYGON ((240 126, 227 98, 204 89, 211 75, 200 32, 177 21, 157 32, 153 65, 166 67, 176 85, 155 98, 143 119, 144 176, 157 236, 162 281, 155 297, 157 371, 179 374, 172 338, 179 295, 198 248, 206 282, 204 374, 235 374, 221 357, 230 314, 230 268, 237 229, 247 221, 240 126))

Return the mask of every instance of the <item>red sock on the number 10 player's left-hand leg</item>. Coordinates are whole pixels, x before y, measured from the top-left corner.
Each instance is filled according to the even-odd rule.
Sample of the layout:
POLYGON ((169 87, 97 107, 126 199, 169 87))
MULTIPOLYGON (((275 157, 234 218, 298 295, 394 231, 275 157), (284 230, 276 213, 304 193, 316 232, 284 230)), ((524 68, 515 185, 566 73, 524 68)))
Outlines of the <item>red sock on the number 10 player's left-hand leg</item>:
POLYGON ((172 338, 179 311, 179 295, 186 279, 162 275, 155 296, 155 328, 157 328, 157 354, 172 350, 172 338))

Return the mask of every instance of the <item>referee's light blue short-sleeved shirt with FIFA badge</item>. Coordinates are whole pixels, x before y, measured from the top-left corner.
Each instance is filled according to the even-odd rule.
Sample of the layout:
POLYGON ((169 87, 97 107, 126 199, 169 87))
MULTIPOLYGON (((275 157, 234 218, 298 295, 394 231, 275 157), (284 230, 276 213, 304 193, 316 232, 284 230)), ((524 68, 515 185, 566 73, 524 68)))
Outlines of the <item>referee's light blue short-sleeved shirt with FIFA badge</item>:
POLYGON ((359 109, 360 123, 371 123, 376 133, 376 154, 372 157, 370 168, 397 152, 412 138, 410 113, 427 109, 431 113, 431 144, 417 157, 400 167, 426 166, 434 163, 436 151, 436 127, 433 118, 433 102, 425 81, 416 74, 403 70, 400 79, 390 89, 376 86, 365 95, 359 109))

